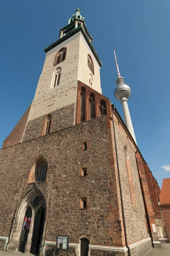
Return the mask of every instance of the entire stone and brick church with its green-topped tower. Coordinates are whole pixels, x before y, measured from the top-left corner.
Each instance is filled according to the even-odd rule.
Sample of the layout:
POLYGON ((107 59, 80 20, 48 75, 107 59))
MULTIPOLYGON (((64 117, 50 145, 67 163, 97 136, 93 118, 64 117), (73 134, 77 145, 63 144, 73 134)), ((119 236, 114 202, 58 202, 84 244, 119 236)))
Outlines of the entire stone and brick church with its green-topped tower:
POLYGON ((45 48, 34 100, 0 150, 0 249, 144 256, 167 240, 159 186, 102 95, 102 63, 79 9, 45 48), (159 228, 158 228, 159 227, 159 228))

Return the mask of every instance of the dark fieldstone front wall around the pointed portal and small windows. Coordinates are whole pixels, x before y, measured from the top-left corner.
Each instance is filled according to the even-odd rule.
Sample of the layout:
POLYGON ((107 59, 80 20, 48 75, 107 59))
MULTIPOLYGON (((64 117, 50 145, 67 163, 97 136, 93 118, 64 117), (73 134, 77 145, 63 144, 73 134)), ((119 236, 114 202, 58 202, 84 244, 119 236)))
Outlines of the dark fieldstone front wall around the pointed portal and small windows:
POLYGON ((47 204, 45 240, 68 235, 70 242, 79 243, 86 236, 92 244, 124 246, 108 124, 110 116, 102 116, 0 150, 1 236, 9 235, 14 212, 33 186, 27 184, 31 165, 44 156, 48 176, 37 186, 47 204), (82 150, 83 141, 89 142, 88 150, 82 150), (80 175, 83 167, 87 177, 80 175), (80 209, 80 198, 85 197, 87 209, 80 209))

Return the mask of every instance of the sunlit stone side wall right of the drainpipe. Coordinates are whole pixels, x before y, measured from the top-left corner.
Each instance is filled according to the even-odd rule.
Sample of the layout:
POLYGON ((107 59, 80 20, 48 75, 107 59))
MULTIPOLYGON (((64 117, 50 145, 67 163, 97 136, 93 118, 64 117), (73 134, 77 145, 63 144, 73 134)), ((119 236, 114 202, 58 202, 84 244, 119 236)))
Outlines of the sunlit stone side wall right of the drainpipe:
POLYGON ((149 236, 145 222, 145 209, 142 198, 142 191, 139 181, 139 173, 136 165, 136 148, 133 142, 125 132, 121 121, 114 115, 115 134, 117 143, 117 152, 119 160, 119 169, 122 182, 122 194, 125 207, 125 218, 127 226, 127 241, 128 244, 133 243, 149 236), (127 147, 129 155, 130 169, 132 174, 132 182, 134 193, 133 198, 136 199, 136 207, 134 208, 130 198, 130 187, 128 183, 127 167, 125 161, 124 146, 127 147), (139 232, 140 230, 140 232, 139 232))

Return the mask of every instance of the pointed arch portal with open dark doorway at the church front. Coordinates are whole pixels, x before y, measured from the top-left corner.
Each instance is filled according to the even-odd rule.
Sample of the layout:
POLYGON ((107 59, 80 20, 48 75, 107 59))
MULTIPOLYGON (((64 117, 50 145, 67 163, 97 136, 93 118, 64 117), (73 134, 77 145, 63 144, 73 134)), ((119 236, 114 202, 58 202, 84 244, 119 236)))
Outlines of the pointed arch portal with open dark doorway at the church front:
POLYGON ((41 255, 46 212, 44 195, 34 185, 17 207, 6 250, 41 255))

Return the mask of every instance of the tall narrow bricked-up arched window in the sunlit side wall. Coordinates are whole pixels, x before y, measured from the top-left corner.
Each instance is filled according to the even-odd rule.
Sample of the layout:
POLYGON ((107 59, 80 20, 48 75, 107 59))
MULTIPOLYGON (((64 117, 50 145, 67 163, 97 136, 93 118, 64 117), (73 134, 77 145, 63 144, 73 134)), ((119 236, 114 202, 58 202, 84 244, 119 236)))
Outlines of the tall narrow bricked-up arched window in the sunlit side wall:
POLYGON ((129 191, 130 191, 130 201, 134 208, 136 208, 136 195, 135 195, 135 189, 133 185, 133 177, 132 177, 132 171, 130 166, 130 159, 129 154, 127 151, 127 146, 124 147, 124 154, 125 154, 125 162, 126 162, 126 170, 127 170, 127 178, 129 183, 129 191))

